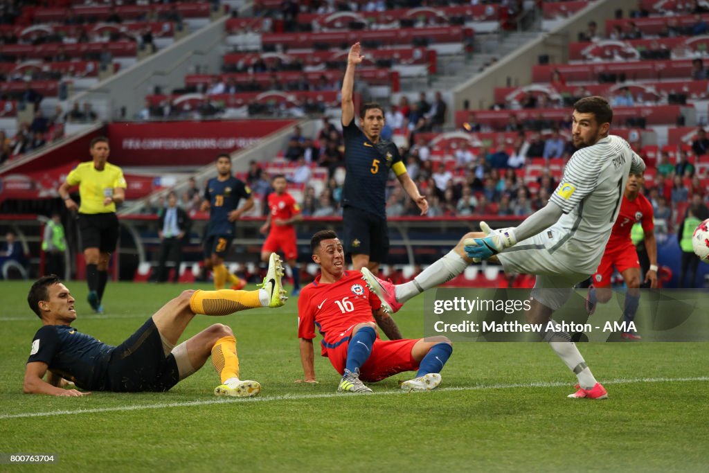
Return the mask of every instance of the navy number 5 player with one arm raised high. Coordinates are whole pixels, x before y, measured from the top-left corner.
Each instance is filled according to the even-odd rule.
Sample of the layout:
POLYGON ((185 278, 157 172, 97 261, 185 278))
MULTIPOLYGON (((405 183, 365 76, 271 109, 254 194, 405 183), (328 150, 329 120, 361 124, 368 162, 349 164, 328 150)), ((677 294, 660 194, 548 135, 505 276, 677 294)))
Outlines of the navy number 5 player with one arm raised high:
POLYGON ((352 256, 352 267, 368 267, 374 274, 389 254, 389 228, 386 226, 386 182, 389 171, 396 174, 411 199, 421 210, 428 202, 406 172, 398 148, 379 136, 384 127, 384 110, 378 104, 364 104, 359 126, 354 123, 352 87, 354 69, 362 62, 361 47, 355 43, 347 57, 342 80, 342 134, 345 137, 345 187, 342 191, 342 221, 345 253, 352 256))

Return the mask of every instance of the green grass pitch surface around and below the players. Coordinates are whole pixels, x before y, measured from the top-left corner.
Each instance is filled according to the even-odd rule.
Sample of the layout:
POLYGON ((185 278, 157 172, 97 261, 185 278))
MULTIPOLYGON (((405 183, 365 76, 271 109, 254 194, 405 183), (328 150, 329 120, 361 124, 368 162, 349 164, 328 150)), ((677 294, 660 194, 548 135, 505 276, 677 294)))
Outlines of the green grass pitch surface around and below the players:
MULTIPOLYGON (((179 285, 110 283, 106 315, 91 314, 84 282, 74 327, 121 343, 179 285)), ((203 284, 201 289, 208 289, 203 284)), ((606 401, 566 399, 575 378, 544 343, 457 343, 441 389, 406 394, 403 373, 374 396, 335 394, 339 376, 316 357, 301 377, 296 298, 279 309, 198 316, 185 338, 215 322, 237 337, 255 399, 217 399, 211 365, 161 394, 84 398, 22 394, 35 331, 26 282, 1 282, 0 453, 53 453, 55 465, 0 464, 0 472, 466 471, 704 472, 709 464, 709 345, 582 343, 606 401)), ((423 334, 423 297, 396 315, 423 334)), ((316 351, 317 353, 317 351, 316 351)))

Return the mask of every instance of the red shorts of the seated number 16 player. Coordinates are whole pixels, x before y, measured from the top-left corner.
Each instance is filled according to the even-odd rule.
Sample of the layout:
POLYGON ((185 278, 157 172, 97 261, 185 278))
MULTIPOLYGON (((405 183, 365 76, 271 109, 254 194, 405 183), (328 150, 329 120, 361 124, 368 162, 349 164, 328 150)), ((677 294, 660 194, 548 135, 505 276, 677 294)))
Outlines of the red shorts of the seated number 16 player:
MULTIPOLYGON (((359 379, 367 382, 381 381, 384 378, 404 371, 418 369, 418 362, 411 356, 411 349, 418 340, 374 340, 372 354, 359 368, 359 379)), ((350 340, 340 343, 335 348, 326 348, 330 363, 340 374, 345 374, 347 365, 347 347, 350 340)))

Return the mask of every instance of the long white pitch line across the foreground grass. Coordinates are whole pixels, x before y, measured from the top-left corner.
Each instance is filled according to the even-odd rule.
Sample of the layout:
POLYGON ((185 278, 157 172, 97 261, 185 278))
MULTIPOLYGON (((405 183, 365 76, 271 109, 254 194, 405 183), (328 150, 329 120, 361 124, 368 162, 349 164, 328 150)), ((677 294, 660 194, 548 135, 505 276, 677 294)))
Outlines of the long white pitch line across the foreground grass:
MULTIPOLYGON (((632 383, 664 383, 664 382, 707 382, 709 377, 692 377, 692 378, 620 378, 605 381, 603 384, 632 384, 632 383)), ((515 389, 515 388, 552 388, 569 386, 568 382, 532 382, 518 384, 477 384, 476 386, 458 386, 450 388, 436 389, 436 392, 454 392, 454 391, 480 391, 483 389, 515 389)), ((410 394, 406 391, 391 390, 391 391, 376 391, 369 396, 391 396, 410 394)), ((339 393, 323 393, 323 394, 286 394, 284 396, 263 396, 252 398, 219 398, 209 399, 205 401, 182 401, 161 404, 145 404, 143 406, 117 406, 117 407, 101 407, 94 409, 74 409, 67 411, 51 411, 51 412, 26 412, 17 414, 1 414, 0 420, 17 419, 28 417, 51 417, 51 416, 76 416, 77 414, 93 414, 101 412, 124 412, 124 411, 143 411, 144 409, 161 409, 174 407, 191 407, 191 406, 208 406, 211 404, 227 404, 235 402, 269 402, 269 401, 298 401, 301 399, 325 399, 339 397, 342 399, 351 398, 347 394, 339 393)), ((357 396, 359 397, 359 396, 357 396)))

